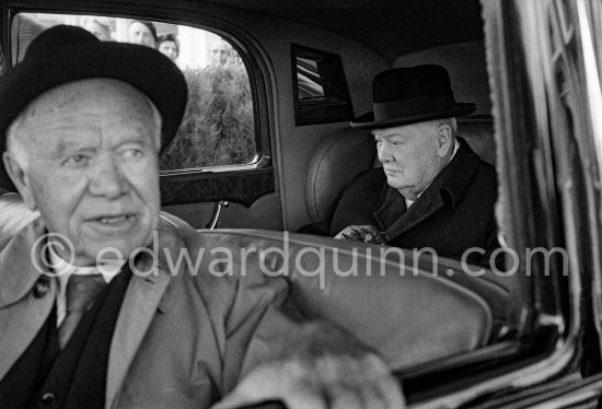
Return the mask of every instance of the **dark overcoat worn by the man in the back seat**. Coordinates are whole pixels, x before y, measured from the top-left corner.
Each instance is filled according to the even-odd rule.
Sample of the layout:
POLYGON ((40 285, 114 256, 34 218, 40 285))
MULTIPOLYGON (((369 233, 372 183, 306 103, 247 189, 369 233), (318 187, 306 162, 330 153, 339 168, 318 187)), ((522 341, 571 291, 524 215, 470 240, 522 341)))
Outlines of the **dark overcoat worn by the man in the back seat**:
MULTIPOLYGON (((444 257, 460 259, 471 247, 496 248, 495 168, 459 140, 453 160, 409 209, 400 191, 386 184, 382 168, 360 174, 340 196, 331 235, 349 225, 372 224, 393 246, 430 247, 444 257)), ((472 253, 468 259, 478 262, 481 254, 472 253)))

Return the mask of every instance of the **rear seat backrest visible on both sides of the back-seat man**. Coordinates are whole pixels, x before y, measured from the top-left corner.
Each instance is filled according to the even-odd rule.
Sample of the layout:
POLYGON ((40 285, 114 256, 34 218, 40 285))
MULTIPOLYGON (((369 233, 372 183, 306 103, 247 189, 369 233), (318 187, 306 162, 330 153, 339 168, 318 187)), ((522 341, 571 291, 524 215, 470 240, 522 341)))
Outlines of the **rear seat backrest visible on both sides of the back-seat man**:
MULTIPOLYGON (((491 118, 458 118, 458 135, 495 166, 491 118)), ((312 222, 329 222, 343 188, 358 174, 380 166, 373 139, 369 130, 346 129, 324 138, 316 147, 305 179, 305 206, 312 222)))

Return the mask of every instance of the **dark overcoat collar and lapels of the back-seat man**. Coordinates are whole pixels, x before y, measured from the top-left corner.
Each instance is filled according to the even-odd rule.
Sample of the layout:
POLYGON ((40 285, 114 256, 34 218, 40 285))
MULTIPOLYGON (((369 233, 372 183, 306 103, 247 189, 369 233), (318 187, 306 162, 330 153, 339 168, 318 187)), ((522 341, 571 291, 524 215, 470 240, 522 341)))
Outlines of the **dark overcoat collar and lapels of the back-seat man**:
POLYGON ((409 209, 406 209, 405 199, 397 189, 384 185, 373 215, 389 241, 420 224, 438 210, 458 206, 481 162, 468 143, 458 139, 460 149, 455 156, 409 209))

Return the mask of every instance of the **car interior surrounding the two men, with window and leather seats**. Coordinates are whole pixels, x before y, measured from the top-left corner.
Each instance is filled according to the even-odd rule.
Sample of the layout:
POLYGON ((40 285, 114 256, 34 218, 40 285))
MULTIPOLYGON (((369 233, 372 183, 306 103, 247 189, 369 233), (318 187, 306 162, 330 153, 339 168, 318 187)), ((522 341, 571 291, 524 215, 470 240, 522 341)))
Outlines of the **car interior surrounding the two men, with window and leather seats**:
MULTIPOLYGON (((2 69, 44 30, 84 16, 105 19, 111 40, 128 42, 139 20, 175 35, 189 102, 161 157, 162 210, 211 246, 271 249, 251 257, 248 273, 266 264, 286 270, 304 317, 334 322, 379 351, 410 405, 438 407, 481 385, 456 400, 477 407, 479 394, 497 396, 499 385, 483 386, 493 374, 541 360, 568 331, 559 318, 571 305, 568 279, 471 274, 461 260, 369 244, 358 255, 357 243, 327 233, 345 186, 380 166, 371 132, 349 121, 372 109, 372 80, 386 69, 445 67, 455 100, 477 106, 459 118, 459 136, 501 184, 517 183, 499 171, 501 148, 513 142, 499 135, 491 104, 491 9, 478 0, 8 1, 2 69)), ((500 188, 496 210, 501 244, 512 242, 508 191, 500 188)), ((523 262, 507 257, 506 267, 523 262)))

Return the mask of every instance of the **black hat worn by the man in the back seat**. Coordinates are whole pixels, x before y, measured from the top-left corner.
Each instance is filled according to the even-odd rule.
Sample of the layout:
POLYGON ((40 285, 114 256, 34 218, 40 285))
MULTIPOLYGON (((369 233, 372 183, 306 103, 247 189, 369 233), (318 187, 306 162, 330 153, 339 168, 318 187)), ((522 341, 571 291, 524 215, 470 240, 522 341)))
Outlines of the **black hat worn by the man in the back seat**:
POLYGON ((436 65, 383 71, 374 78, 372 96, 374 110, 354 119, 351 127, 389 128, 476 110, 475 104, 455 102, 448 71, 436 65))

